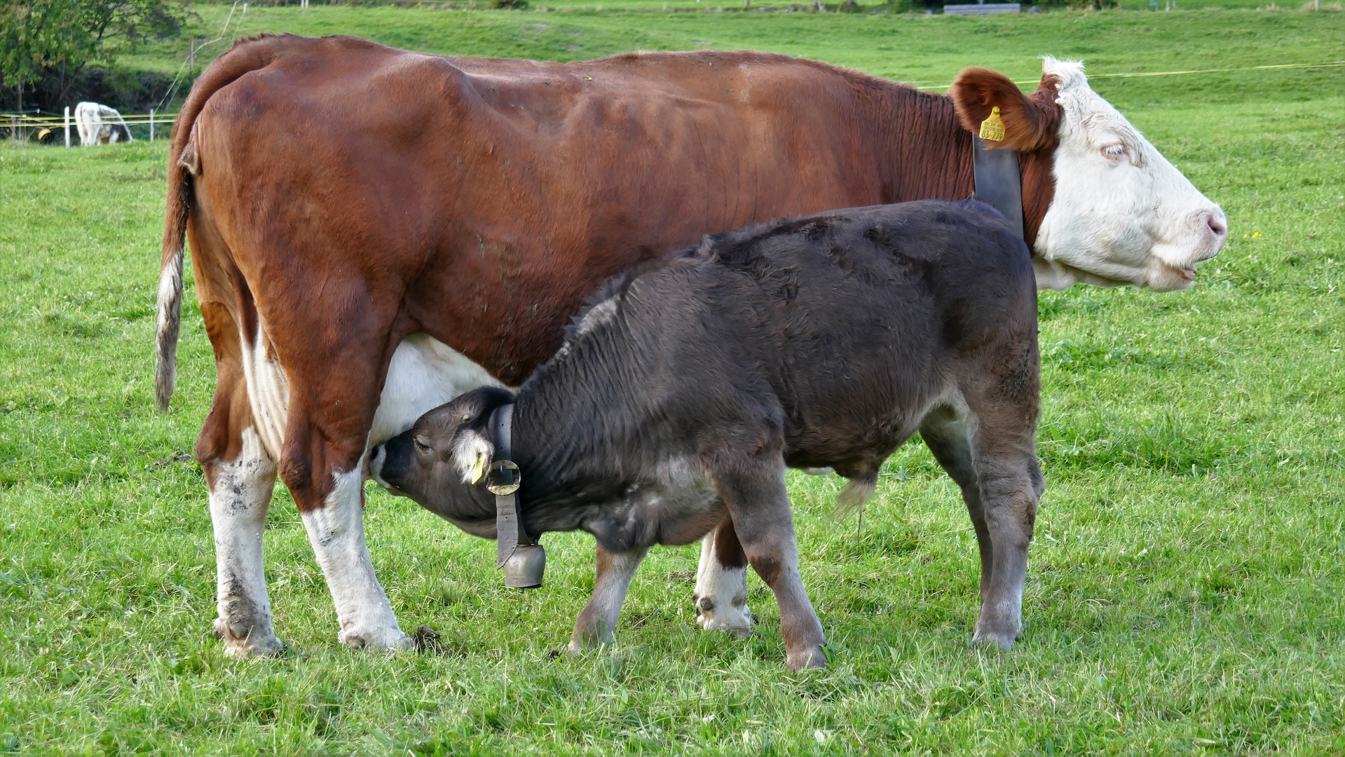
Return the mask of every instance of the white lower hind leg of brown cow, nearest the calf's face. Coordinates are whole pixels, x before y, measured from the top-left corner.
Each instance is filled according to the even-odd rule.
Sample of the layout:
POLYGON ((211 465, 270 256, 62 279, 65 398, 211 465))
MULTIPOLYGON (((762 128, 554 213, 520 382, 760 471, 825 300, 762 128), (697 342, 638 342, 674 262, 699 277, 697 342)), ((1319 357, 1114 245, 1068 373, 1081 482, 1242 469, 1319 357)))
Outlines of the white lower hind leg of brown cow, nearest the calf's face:
POLYGON ((336 604, 336 640, 355 649, 406 649, 410 639, 397 624, 364 543, 362 469, 332 472, 321 507, 301 508, 304 527, 336 604))

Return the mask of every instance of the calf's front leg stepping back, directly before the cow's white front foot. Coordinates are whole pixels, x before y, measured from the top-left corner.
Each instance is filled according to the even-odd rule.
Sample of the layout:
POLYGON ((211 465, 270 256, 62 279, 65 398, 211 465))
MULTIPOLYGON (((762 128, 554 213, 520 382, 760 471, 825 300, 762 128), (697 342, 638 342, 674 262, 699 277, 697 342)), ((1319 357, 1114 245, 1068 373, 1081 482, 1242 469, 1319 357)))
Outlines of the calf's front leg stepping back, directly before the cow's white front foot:
POLYGON ((792 671, 826 667, 826 636, 799 575, 794 516, 784 485, 784 465, 756 467, 716 476, 729 507, 734 531, 752 570, 765 581, 780 605, 780 635, 785 667, 792 671))

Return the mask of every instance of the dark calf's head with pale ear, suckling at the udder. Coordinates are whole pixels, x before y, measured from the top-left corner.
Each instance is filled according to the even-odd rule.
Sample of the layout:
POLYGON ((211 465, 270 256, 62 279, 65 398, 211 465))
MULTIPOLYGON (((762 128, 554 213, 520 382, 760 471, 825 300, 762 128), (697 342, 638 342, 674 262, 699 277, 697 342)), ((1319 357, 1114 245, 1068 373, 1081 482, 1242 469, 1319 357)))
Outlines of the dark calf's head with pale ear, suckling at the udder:
POLYGON ((369 475, 464 531, 495 538, 495 497, 484 487, 495 454, 491 413, 514 401, 484 386, 417 418, 416 425, 369 454, 369 475))

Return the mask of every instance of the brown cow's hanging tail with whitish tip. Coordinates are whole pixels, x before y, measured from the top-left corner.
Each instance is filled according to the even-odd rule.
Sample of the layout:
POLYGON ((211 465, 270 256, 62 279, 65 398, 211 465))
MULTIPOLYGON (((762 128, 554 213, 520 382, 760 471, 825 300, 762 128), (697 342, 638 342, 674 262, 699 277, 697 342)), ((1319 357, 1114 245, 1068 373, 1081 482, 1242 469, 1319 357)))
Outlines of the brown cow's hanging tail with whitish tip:
POLYGON ((168 211, 164 216, 163 258, 159 262, 159 328, 155 333, 155 398, 167 410, 178 378, 178 335, 182 328, 182 270, 187 241, 187 210, 192 176, 202 171, 196 144, 196 117, 217 91, 249 71, 280 58, 288 44, 308 42, 293 35, 245 39, 217 58, 196 79, 178 113, 168 148, 168 211))

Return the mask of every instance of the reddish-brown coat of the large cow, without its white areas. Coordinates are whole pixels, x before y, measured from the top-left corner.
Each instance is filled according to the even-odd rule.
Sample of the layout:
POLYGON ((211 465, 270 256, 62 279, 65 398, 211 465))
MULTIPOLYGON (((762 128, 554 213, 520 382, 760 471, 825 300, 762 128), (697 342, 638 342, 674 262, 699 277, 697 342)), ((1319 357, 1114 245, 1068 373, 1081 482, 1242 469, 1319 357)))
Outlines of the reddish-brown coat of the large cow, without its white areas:
MULTIPOLYGON (((975 77, 1007 95, 998 74, 975 77)), ((1044 148, 1022 153, 1030 243, 1053 143, 1022 147, 1044 148)), ((198 81, 169 159, 164 261, 186 226, 219 372, 198 457, 231 459, 252 422, 238 335, 252 343, 258 323, 289 376, 280 472, 308 510, 359 460, 408 333, 518 385, 580 300, 636 261, 771 218, 971 194, 951 98, 824 63, 242 42, 198 81)))

